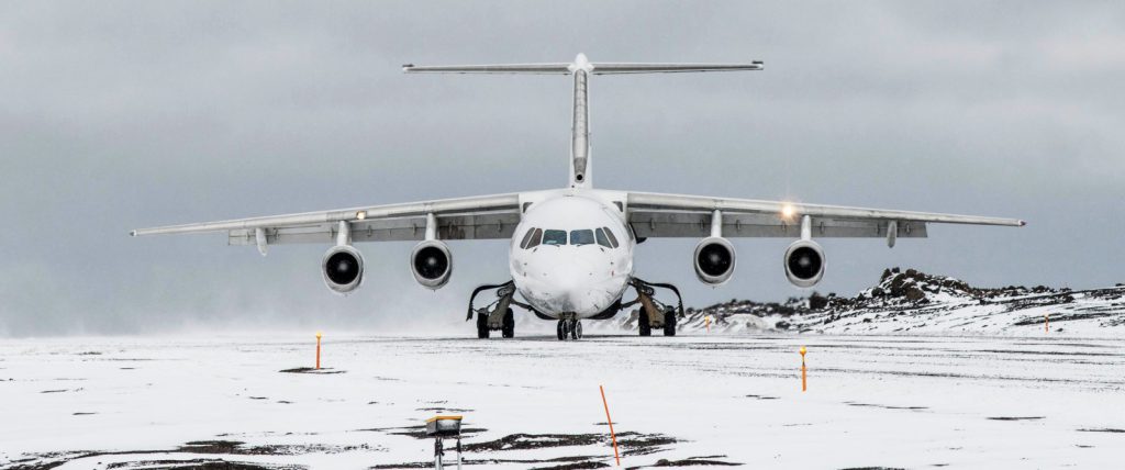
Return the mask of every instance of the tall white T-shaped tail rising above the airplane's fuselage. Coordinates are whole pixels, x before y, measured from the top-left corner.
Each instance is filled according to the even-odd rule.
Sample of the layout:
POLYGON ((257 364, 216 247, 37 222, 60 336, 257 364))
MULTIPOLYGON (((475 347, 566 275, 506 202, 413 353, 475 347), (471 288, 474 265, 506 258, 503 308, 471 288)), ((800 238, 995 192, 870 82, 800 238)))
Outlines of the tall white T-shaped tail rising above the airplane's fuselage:
POLYGON ((762 61, 731 64, 692 63, 593 63, 578 54, 572 63, 492 64, 492 65, 403 65, 407 73, 528 73, 574 76, 574 105, 570 124, 570 188, 591 188, 590 164, 590 75, 623 73, 729 72, 762 70, 762 61))

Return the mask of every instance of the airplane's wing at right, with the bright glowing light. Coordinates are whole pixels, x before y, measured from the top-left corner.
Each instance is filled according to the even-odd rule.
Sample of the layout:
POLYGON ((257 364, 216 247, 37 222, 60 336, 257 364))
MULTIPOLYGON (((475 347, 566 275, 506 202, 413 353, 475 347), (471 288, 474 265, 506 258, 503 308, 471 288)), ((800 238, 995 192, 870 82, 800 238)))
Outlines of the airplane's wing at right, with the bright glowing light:
POLYGON ((716 210, 720 211, 724 237, 798 237, 804 216, 811 219, 813 237, 926 237, 927 224, 1026 225, 1024 220, 997 217, 651 192, 628 195, 628 219, 639 238, 705 237, 711 234, 716 210), (890 229, 894 234, 889 236, 890 229))

